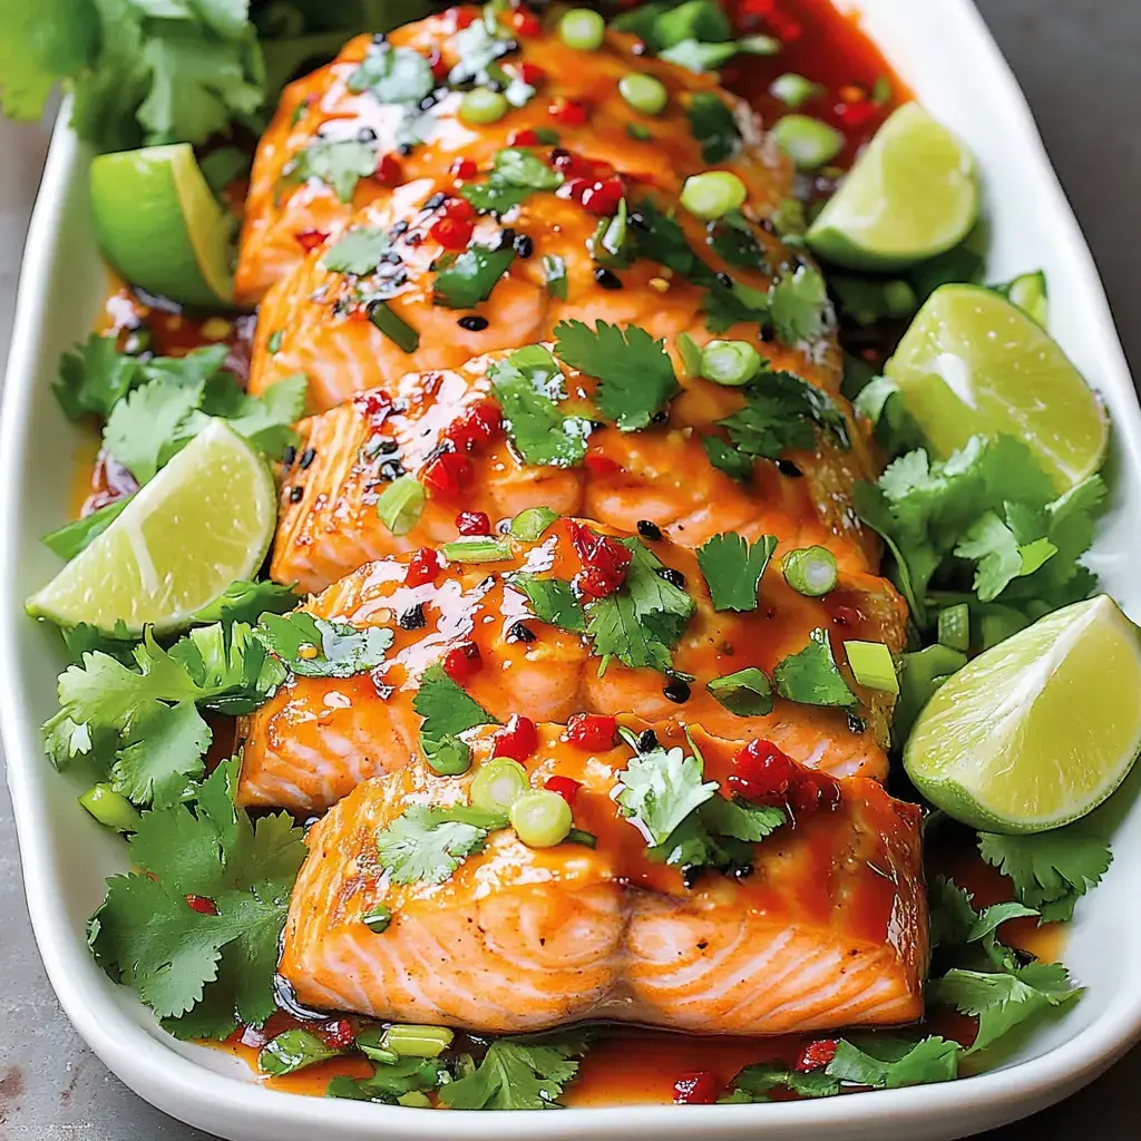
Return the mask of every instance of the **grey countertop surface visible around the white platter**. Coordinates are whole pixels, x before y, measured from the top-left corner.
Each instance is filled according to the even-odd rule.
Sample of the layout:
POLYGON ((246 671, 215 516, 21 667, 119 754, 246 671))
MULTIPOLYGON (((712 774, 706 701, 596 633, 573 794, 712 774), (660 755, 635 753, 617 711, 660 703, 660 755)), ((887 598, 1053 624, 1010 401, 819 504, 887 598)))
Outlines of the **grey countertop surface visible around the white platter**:
MULTIPOLYGON (((978 0, 1029 96, 1085 228, 1134 374, 1141 377, 1141 3, 978 0)), ((0 357, 46 129, 0 123, 0 357)), ((209 1141, 112 1077, 72 1030, 48 986, 27 922, 11 806, 0 786, 0 1141, 209 1141)), ((1077 1097, 990 1134, 1037 1141, 1136 1136, 1141 1049, 1077 1097), (1132 1124, 1131 1124, 1132 1122, 1132 1124)))

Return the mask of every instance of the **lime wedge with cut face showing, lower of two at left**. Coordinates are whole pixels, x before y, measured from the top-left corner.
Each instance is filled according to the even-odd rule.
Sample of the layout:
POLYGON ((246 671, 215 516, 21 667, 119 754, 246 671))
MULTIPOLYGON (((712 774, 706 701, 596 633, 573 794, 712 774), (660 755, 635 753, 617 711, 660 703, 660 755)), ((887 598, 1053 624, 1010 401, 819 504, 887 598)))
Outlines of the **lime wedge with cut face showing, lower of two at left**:
POLYGON ((265 461, 215 420, 27 600, 27 613, 64 626, 177 630, 234 580, 254 576, 276 518, 265 461))

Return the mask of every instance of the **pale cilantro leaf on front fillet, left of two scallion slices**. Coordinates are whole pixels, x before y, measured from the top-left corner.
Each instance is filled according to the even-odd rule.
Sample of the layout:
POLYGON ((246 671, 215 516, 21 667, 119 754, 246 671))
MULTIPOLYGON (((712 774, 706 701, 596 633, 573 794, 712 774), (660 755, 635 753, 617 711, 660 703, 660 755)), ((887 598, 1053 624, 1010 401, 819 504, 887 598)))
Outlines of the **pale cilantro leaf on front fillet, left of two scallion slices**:
POLYGON ((377 855, 393 883, 444 883, 505 823, 474 808, 416 804, 377 833, 377 855))

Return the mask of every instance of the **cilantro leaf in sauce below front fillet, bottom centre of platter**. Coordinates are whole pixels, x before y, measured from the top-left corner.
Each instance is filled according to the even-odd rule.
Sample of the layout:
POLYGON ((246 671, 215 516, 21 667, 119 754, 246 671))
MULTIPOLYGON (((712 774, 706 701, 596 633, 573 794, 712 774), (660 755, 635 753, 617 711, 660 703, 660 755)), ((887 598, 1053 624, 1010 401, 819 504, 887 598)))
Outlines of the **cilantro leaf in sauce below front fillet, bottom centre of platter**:
POLYGON ((474 1073, 439 1091, 452 1109, 550 1109, 578 1073, 582 1037, 499 1038, 474 1073))

